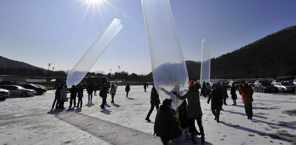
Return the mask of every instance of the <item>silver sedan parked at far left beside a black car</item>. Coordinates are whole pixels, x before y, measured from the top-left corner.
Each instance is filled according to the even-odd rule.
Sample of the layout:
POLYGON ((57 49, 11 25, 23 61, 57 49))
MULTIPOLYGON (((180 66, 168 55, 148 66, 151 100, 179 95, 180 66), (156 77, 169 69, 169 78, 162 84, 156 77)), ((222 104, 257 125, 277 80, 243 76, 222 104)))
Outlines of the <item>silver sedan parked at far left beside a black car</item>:
POLYGON ((33 89, 26 89, 16 85, 4 85, 1 88, 9 90, 10 96, 32 96, 36 94, 36 91, 33 89))

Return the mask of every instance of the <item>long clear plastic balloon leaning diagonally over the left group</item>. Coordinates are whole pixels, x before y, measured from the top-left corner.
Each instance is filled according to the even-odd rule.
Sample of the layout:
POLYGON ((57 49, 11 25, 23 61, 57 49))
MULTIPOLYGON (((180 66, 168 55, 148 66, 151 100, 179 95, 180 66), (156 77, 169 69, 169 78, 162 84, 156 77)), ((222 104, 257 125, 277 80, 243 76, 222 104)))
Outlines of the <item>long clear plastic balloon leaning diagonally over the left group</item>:
POLYGON ((107 46, 122 29, 123 24, 119 19, 114 19, 107 29, 99 36, 97 41, 88 49, 84 56, 78 61, 67 75, 67 87, 78 85, 86 73, 95 64, 107 46))

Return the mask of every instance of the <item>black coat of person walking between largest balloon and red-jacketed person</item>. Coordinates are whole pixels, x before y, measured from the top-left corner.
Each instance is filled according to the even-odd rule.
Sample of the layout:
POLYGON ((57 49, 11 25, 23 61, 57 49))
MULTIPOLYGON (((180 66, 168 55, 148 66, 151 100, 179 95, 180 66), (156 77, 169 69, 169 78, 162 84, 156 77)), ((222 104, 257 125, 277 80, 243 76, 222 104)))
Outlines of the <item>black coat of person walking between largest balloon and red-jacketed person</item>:
POLYGON ((211 100, 211 109, 212 110, 221 110, 223 105, 223 93, 219 88, 213 89, 208 99, 208 103, 211 100))

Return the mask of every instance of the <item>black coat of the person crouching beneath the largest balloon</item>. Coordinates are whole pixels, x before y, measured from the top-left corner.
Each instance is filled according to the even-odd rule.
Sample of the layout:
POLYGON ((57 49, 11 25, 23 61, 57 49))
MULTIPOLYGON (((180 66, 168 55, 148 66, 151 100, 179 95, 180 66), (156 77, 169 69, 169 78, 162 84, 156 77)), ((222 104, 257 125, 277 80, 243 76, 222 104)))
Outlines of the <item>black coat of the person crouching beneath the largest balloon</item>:
POLYGON ((170 108, 161 105, 157 110, 154 123, 154 132, 156 136, 167 137, 170 133, 170 128, 179 128, 170 108))

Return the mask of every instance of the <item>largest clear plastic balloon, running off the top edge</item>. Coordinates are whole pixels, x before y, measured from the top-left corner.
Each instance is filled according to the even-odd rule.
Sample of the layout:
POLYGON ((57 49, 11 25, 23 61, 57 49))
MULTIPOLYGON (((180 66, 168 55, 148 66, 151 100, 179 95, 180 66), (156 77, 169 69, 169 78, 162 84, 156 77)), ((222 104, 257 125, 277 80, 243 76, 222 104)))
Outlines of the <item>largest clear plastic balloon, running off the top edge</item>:
POLYGON ((171 7, 168 0, 142 0, 142 7, 154 86, 162 100, 173 100, 172 108, 176 109, 183 101, 173 90, 185 94, 188 72, 171 7), (174 88, 174 83, 180 87, 174 88))

